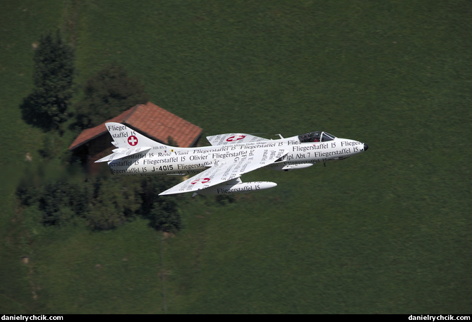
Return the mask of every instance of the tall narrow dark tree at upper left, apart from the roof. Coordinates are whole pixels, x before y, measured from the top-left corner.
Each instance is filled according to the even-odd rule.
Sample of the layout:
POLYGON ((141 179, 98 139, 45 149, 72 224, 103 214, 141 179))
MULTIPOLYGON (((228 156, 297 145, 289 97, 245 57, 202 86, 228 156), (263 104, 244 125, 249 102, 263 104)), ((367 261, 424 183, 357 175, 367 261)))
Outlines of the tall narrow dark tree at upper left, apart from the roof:
POLYGON ((73 95, 73 49, 57 30, 42 36, 33 56, 33 92, 21 105, 23 119, 44 130, 58 129, 68 117, 73 95))

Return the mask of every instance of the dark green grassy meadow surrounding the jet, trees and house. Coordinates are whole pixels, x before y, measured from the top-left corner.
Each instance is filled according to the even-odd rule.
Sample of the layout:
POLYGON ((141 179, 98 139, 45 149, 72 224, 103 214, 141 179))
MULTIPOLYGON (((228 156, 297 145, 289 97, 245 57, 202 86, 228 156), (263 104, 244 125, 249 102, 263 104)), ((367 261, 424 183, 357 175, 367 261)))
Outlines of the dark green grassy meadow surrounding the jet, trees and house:
POLYGON ((4 2, 1 314, 471 313, 469 1, 4 2), (203 145, 324 130, 369 150, 251 172, 242 179, 278 186, 233 203, 186 195, 171 236, 139 218, 43 227, 15 189, 48 133, 19 106, 33 47, 57 28, 75 48, 74 100, 116 63, 202 127, 203 145))

